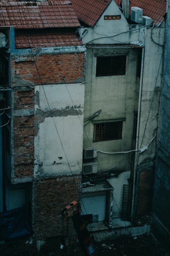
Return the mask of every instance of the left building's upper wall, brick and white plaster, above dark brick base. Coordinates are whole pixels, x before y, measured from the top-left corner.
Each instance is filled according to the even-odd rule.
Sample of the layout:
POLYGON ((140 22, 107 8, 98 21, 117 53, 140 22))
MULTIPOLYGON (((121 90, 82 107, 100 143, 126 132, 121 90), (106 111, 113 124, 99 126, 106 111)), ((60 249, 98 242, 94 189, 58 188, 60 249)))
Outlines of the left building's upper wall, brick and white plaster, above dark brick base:
MULTIPOLYGON (((15 52, 16 51, 14 51, 14 53, 15 52)), ((78 171, 77 167, 75 167, 75 161, 77 161, 79 163, 79 173, 81 172, 84 85, 79 83, 79 86, 77 84, 74 84, 73 86, 72 84, 69 84, 67 86, 56 85, 53 87, 52 84, 59 82, 63 83, 66 81, 69 83, 72 83, 73 81, 76 83, 84 81, 84 53, 80 52, 79 50, 77 50, 77 52, 74 53, 69 53, 68 49, 66 53, 64 53, 64 50, 62 49, 62 52, 60 52, 60 54, 58 53, 58 51, 56 51, 57 53, 55 54, 55 51, 53 50, 53 55, 51 51, 50 54, 47 54, 48 51, 46 51, 45 54, 40 55, 40 49, 36 52, 37 55, 34 57, 29 54, 27 55, 27 50, 18 50, 18 55, 12 55, 13 57, 11 62, 11 73, 14 103, 12 112, 12 121, 14 124, 14 147, 12 149, 12 180, 15 183, 31 181, 33 177, 34 137, 37 136, 38 129, 40 128, 40 126, 42 128, 40 137, 43 138, 43 140, 41 140, 41 143, 44 143, 44 138, 46 138, 46 142, 48 140, 51 140, 53 143, 52 147, 49 147, 48 143, 40 145, 42 146, 41 148, 48 148, 47 151, 43 151, 43 158, 45 157, 47 159, 52 152, 55 152, 56 145, 59 150, 58 139, 57 141, 55 141, 54 139, 56 135, 55 125, 53 123, 54 121, 60 125, 60 135, 62 138, 65 138, 64 147, 67 155, 68 151, 70 151, 70 147, 72 148, 73 144, 76 141, 79 141, 79 143, 76 143, 77 158, 75 157, 75 154, 73 154, 72 151, 71 157, 76 158, 76 160, 72 160, 69 157, 69 162, 71 166, 74 166, 73 171, 75 171, 75 169, 76 171, 78 171), (35 90, 35 84, 41 83, 51 85, 46 85, 44 87, 45 90, 42 87, 41 90, 35 90), (58 90, 59 87, 61 88, 61 90, 58 90), (62 88, 65 88, 65 91, 62 91, 62 88), (38 95, 39 93, 40 96, 38 95), (47 99, 50 102, 50 108, 53 112, 51 112, 51 109, 49 110, 45 93, 47 94, 47 99), (65 98, 65 93, 67 93, 67 98, 65 98), (74 97, 74 95, 76 96, 74 97), (38 103, 38 101, 40 102, 38 103), (60 101, 62 103, 60 103, 60 101), (39 113, 36 109, 35 116, 34 104, 36 106, 38 106, 37 104, 39 104, 39 106, 36 107, 39 108, 39 113), (61 108, 64 108, 65 111, 62 111, 61 108), (44 113, 43 111, 46 111, 46 113, 44 113), (55 118, 55 120, 52 119, 53 117, 55 118), (57 118, 58 120, 56 120, 57 118), (50 120, 50 122, 53 123, 51 126, 49 126, 48 119, 50 120), (53 131, 50 130, 50 127, 53 127, 53 131), (65 131, 63 130, 64 127, 65 131), (67 136, 65 136, 65 133, 67 133, 67 136), (73 133, 74 136, 72 136, 73 133), (72 144, 69 143, 68 145, 67 140, 70 141, 70 136, 72 136, 72 144), (51 151, 49 149, 51 149, 51 151)), ((39 144, 37 144, 36 146, 39 146, 39 144)), ((60 153, 57 156, 57 159, 58 157, 61 157, 61 155, 62 153, 60 153)), ((44 161, 42 160, 41 154, 40 159, 38 160, 38 162, 44 161)), ((53 162, 50 161, 52 169, 56 168, 57 159, 53 159, 53 162), (54 163, 56 163, 56 165, 54 163)), ((67 162, 66 159, 64 160, 64 162, 67 162)), ((35 165, 36 164, 37 159, 35 165)), ((66 163, 66 165, 68 165, 68 163, 66 163)), ((51 170, 47 173, 49 175, 50 173, 53 172, 54 171, 51 170)), ((68 173, 68 170, 66 172, 68 173)), ((64 174, 62 173, 62 169, 60 170, 60 174, 64 174)))

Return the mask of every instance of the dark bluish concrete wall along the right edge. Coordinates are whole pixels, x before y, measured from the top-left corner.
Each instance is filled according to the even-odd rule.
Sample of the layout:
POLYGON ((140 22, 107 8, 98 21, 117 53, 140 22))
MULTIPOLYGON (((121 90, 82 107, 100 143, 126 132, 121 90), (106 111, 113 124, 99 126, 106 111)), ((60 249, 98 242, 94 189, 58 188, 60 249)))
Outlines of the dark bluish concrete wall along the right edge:
POLYGON ((170 1, 166 16, 163 87, 160 98, 157 136, 157 160, 153 198, 153 222, 156 233, 170 253, 170 1))

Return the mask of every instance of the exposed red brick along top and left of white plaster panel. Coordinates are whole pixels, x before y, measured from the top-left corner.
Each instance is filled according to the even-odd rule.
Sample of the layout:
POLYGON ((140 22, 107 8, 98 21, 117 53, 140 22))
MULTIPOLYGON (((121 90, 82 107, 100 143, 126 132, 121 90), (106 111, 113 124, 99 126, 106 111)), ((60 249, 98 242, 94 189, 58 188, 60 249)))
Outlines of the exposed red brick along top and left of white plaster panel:
MULTIPOLYGON (((12 59, 12 84, 14 87, 14 110, 34 109, 35 84, 74 82, 84 77, 84 53, 44 54, 34 58, 12 59), (37 69, 38 72, 37 72, 37 69), (41 77, 41 81, 39 79, 41 77), (22 81, 23 79, 23 81, 22 81)), ((38 118, 15 116, 13 128, 14 177, 33 176, 34 136, 37 134, 38 118)))

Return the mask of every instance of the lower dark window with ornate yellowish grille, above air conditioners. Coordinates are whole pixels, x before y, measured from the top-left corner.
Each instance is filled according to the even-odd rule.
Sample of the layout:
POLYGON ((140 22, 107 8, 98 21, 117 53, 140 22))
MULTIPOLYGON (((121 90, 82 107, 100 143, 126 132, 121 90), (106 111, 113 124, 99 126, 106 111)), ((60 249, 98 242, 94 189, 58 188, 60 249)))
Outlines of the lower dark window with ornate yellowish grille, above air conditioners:
POLYGON ((94 124, 94 140, 119 140, 122 138, 122 124, 123 122, 108 122, 94 124))

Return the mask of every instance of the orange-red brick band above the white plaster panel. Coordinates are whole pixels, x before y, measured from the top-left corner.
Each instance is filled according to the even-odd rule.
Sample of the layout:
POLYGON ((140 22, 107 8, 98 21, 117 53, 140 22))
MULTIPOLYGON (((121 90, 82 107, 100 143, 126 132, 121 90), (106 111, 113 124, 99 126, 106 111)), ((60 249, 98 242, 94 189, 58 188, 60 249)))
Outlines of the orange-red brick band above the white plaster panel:
POLYGON ((76 79, 84 77, 84 53, 44 54, 35 57, 35 61, 36 66, 35 62, 31 60, 16 62, 16 73, 22 79, 35 84, 74 82, 76 79))

